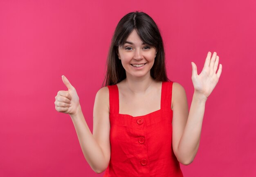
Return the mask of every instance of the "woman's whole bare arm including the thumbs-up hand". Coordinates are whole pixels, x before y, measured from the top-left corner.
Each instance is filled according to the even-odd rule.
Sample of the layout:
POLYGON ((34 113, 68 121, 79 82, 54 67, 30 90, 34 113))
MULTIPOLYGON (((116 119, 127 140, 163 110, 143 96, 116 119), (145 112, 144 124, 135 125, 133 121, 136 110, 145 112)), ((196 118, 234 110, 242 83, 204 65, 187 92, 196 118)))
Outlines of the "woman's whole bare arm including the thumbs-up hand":
POLYGON ((64 75, 61 77, 68 90, 58 91, 54 102, 55 109, 58 112, 70 115, 85 159, 96 173, 101 173, 107 168, 110 161, 108 87, 101 88, 96 94, 93 108, 92 135, 83 117, 76 89, 64 75))

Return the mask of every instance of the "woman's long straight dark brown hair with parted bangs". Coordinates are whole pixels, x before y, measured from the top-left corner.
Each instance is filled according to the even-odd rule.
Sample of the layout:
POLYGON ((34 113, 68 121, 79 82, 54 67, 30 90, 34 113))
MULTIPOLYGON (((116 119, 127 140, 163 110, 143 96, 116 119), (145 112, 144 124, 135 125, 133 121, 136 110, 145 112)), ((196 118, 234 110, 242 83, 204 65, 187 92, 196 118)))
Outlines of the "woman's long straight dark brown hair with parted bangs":
POLYGON ((108 52, 107 73, 104 79, 106 86, 126 79, 126 71, 117 54, 119 46, 124 46, 133 29, 136 29, 141 41, 156 48, 157 55, 150 75, 155 81, 170 81, 166 75, 164 45, 157 24, 148 14, 135 11, 126 14, 115 29, 108 52))

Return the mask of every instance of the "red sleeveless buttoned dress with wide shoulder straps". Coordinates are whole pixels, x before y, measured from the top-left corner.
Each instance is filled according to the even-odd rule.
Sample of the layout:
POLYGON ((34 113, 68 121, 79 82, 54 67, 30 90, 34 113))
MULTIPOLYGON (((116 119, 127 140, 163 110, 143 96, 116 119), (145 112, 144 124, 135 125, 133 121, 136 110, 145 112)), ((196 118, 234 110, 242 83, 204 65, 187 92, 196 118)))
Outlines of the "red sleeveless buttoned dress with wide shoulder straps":
POLYGON ((119 114, 117 85, 108 85, 111 156, 104 177, 183 177, 172 149, 173 82, 162 82, 161 109, 119 114))

